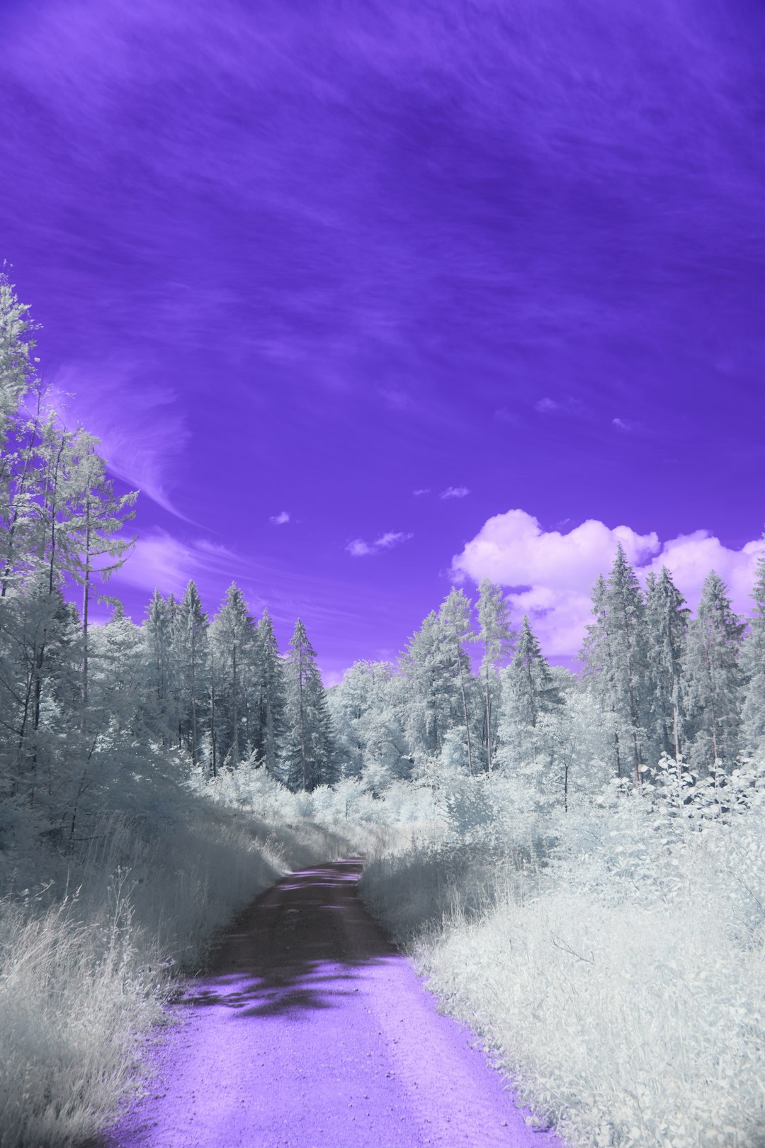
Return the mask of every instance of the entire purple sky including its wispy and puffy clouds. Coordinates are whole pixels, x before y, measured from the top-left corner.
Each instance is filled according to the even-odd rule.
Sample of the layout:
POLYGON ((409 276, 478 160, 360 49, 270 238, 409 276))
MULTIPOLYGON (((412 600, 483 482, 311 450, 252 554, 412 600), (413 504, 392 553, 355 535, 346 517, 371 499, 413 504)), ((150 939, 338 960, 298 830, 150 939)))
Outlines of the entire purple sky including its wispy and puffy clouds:
POLYGON ((3 0, 0 55, 0 258, 143 491, 134 618, 235 577, 331 682, 461 556, 560 659, 619 526, 747 608, 762 3, 3 0))

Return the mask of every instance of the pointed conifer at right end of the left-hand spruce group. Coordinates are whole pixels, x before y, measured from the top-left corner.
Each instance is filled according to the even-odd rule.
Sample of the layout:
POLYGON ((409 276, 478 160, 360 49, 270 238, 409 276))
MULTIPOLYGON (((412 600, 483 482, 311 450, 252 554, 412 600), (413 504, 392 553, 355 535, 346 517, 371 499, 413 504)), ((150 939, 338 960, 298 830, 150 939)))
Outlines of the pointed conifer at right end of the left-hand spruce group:
POLYGON ((335 766, 331 720, 317 653, 299 618, 284 659, 284 684, 283 779, 292 790, 330 784, 335 766))

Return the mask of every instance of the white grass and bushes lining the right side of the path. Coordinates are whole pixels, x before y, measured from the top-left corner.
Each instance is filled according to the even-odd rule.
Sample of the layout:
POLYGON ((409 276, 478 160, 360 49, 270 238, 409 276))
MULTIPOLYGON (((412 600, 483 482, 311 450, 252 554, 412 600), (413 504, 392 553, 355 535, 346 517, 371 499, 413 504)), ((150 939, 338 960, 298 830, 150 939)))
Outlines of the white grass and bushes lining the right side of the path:
MULTIPOLYGON (((531 863, 474 870, 454 832, 365 872, 429 987, 575 1148, 765 1142, 763 769, 725 804, 707 785, 669 801, 677 774, 556 814, 531 863)), ((508 840, 513 822, 508 804, 508 840)))

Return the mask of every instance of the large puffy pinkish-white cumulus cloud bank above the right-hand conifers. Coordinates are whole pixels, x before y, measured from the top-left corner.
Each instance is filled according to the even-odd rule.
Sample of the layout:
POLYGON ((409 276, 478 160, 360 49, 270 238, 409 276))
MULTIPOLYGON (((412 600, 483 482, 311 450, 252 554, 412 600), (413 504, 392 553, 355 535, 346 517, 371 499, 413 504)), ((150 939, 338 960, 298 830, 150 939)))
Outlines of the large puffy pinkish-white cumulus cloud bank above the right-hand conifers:
POLYGON ((592 621, 591 591, 599 574, 608 574, 622 543, 627 560, 645 582, 649 571, 666 566, 695 608, 710 569, 725 579, 733 606, 749 611, 762 541, 741 550, 724 546, 709 530, 679 535, 662 543, 656 532, 638 534, 629 526, 608 527, 595 519, 562 534, 544 530, 522 510, 495 514, 467 543, 452 563, 453 576, 474 582, 487 577, 508 588, 507 598, 518 620, 532 619, 545 652, 551 657, 577 653, 592 621))

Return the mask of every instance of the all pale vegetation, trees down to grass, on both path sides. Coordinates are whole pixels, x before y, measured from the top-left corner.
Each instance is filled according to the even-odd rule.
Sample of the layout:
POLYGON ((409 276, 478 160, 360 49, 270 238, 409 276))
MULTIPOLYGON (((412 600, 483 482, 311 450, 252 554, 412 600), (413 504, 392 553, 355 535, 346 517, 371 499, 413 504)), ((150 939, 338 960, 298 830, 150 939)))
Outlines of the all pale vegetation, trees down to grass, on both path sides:
POLYGON ((744 618, 715 571, 694 613, 619 546, 576 674, 483 581, 325 689, 303 621, 280 650, 234 583, 126 616, 109 579, 136 496, 61 421, 34 331, 3 277, 0 1143, 103 1126, 205 938, 351 850, 373 912, 572 1145, 755 1145, 765 549, 744 618))

